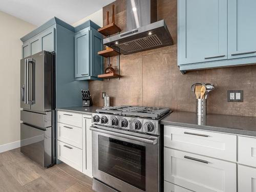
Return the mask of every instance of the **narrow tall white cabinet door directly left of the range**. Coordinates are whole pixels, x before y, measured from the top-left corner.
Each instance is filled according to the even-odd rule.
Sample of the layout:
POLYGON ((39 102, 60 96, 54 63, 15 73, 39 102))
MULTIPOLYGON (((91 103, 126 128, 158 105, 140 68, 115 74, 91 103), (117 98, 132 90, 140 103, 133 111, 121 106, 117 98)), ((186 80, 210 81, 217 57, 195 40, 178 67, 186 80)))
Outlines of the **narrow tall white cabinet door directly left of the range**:
POLYGON ((82 156, 83 169, 82 172, 92 177, 92 117, 88 115, 82 116, 82 156))

